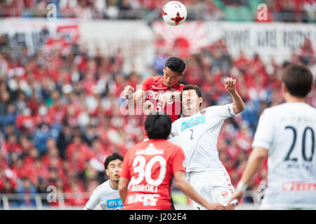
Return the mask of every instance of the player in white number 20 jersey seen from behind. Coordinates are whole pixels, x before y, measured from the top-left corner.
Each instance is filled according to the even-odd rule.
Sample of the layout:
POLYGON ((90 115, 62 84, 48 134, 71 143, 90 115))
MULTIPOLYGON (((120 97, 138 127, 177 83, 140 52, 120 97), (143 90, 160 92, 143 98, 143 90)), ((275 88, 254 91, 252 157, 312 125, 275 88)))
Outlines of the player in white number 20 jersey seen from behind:
POLYGON ((316 109, 305 103, 312 79, 303 65, 290 64, 284 70, 285 103, 261 114, 253 151, 231 200, 243 197, 268 156, 268 186, 260 209, 316 209, 316 109))

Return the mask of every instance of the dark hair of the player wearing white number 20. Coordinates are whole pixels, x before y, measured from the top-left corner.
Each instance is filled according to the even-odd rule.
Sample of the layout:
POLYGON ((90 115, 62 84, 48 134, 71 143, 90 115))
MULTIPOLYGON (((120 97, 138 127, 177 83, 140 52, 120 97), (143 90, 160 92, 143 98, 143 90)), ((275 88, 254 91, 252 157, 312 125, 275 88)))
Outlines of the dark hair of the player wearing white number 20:
POLYGON ((289 64, 282 75, 287 90, 296 97, 306 97, 312 89, 312 79, 312 72, 303 64, 289 64))

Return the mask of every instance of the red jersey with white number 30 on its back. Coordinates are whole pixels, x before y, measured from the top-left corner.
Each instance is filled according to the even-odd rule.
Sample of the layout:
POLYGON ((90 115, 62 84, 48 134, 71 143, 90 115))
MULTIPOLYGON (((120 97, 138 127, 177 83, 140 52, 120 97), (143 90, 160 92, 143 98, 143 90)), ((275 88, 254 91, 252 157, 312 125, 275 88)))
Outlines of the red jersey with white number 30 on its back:
POLYGON ((140 142, 127 151, 119 176, 130 179, 124 210, 171 210, 173 174, 185 172, 183 149, 165 139, 140 142))

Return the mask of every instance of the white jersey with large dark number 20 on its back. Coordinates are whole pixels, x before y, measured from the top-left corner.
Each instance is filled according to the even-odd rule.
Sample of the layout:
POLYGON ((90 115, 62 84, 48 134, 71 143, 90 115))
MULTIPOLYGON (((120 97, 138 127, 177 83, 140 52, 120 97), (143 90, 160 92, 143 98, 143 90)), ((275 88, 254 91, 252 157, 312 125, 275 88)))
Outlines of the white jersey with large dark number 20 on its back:
POLYGON ((261 114, 252 147, 268 150, 261 209, 316 209, 316 109, 285 103, 261 114))

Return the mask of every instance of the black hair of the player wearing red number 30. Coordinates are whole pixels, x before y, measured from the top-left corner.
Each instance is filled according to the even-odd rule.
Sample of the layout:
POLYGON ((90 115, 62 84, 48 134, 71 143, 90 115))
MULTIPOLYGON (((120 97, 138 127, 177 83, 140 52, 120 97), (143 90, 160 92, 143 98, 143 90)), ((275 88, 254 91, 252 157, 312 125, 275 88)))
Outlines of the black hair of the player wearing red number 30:
POLYGON ((149 139, 167 139, 171 132, 168 115, 150 114, 145 120, 145 130, 149 139))

